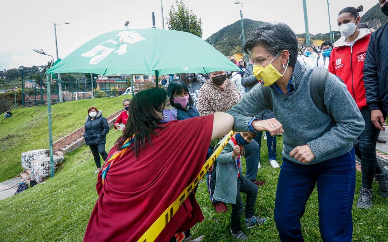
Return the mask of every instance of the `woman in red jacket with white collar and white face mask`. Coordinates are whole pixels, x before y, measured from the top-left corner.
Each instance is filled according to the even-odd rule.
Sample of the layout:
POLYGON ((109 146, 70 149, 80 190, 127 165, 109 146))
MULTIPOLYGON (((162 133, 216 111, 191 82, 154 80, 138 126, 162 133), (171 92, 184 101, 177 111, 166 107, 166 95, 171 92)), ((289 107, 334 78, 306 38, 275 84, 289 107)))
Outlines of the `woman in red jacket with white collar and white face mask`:
POLYGON ((365 121, 365 129, 359 137, 358 145, 355 145, 355 150, 356 155, 361 158, 362 168, 362 184, 357 207, 367 209, 372 206, 373 178, 376 177, 378 180, 385 178, 386 173, 377 164, 376 141, 379 129, 374 127, 371 121, 371 111, 365 98, 363 69, 371 32, 368 29, 357 28, 357 24, 360 23, 359 12, 362 10, 362 5, 357 9, 346 7, 338 14, 338 26, 342 37, 334 43, 329 71, 345 82, 365 121))

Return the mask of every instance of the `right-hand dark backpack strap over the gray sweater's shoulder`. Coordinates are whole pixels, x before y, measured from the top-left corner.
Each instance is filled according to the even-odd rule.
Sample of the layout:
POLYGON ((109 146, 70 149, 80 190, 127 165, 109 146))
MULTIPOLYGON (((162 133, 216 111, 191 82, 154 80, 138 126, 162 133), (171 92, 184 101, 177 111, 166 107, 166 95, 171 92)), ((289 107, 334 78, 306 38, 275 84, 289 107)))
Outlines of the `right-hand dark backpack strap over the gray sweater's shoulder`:
POLYGON ((326 68, 320 68, 315 66, 311 74, 311 83, 310 83, 310 92, 311 98, 317 108, 320 111, 328 114, 324 102, 325 96, 325 80, 327 77, 327 72, 329 70, 326 68))

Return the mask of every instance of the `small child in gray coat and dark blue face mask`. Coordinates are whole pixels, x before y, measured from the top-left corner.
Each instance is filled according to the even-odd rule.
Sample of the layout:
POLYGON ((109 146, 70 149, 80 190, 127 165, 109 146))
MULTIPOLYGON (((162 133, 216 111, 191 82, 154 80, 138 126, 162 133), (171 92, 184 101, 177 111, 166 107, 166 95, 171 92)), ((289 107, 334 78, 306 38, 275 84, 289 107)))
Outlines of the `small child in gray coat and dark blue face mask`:
POLYGON ((240 220, 244 205, 242 204, 240 192, 247 194, 245 200, 245 226, 247 228, 253 228, 256 225, 261 225, 265 221, 265 218, 253 215, 255 213, 258 188, 255 183, 250 182, 242 175, 241 169, 242 146, 248 145, 256 135, 257 132, 235 133, 216 160, 218 164, 213 197, 218 201, 232 204, 232 213, 230 214, 232 236, 241 241, 247 240, 248 236, 241 231, 240 220))

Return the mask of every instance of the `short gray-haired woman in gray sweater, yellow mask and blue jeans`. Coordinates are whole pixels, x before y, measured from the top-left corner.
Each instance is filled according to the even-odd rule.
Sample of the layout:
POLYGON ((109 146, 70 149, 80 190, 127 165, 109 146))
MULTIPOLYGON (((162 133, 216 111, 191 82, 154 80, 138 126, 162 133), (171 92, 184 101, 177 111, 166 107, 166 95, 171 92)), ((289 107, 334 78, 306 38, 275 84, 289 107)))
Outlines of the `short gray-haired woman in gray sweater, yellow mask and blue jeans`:
POLYGON ((352 141, 365 125, 357 104, 345 84, 319 68, 326 70, 319 72, 326 89, 321 101, 326 110, 321 111, 310 90, 313 68, 296 60, 298 41, 287 24, 262 24, 246 41, 244 51, 255 60, 253 75, 262 85, 227 113, 234 117, 236 132, 265 130, 272 136, 284 132, 274 209, 281 241, 304 241, 300 218, 315 185, 322 240, 352 241, 352 141), (265 109, 274 111, 275 118, 254 117, 265 109))

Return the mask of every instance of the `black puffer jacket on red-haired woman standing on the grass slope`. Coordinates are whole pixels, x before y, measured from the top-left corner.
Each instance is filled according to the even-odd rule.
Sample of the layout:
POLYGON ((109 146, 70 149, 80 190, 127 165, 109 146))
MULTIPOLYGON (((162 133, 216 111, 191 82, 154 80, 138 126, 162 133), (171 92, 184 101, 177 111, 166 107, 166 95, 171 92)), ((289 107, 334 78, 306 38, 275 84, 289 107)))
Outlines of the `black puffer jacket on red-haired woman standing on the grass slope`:
POLYGON ((83 133, 86 145, 105 144, 105 136, 108 132, 108 121, 102 117, 101 111, 93 120, 89 115, 86 117, 85 133, 83 133))

